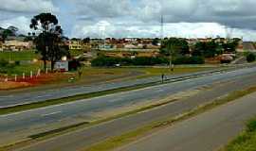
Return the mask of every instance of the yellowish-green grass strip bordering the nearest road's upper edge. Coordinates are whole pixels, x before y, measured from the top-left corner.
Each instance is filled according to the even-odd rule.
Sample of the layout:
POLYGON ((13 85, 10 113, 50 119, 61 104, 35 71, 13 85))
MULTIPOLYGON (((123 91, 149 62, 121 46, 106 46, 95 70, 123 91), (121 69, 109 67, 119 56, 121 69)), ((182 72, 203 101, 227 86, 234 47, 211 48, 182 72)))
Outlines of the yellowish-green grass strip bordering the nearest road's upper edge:
MULTIPOLYGON (((212 101, 209 104, 200 106, 196 109, 192 109, 186 113, 183 113, 177 117, 172 117, 170 119, 165 119, 163 121, 154 122, 148 126, 139 127, 136 130, 132 130, 130 132, 124 133, 120 136, 110 138, 106 141, 103 141, 101 143, 96 143, 88 148, 85 148, 84 151, 108 151, 112 150, 114 148, 117 148, 125 143, 131 143, 137 140, 138 137, 141 137, 145 134, 148 134, 150 132, 153 132, 154 130, 166 127, 166 126, 172 126, 176 122, 180 122, 182 120, 186 120, 188 118, 191 118, 192 116, 198 115, 202 112, 205 112, 210 109, 214 109, 220 105, 224 105, 226 103, 229 103, 231 101, 234 101, 238 98, 241 98, 249 93, 256 92, 256 86, 248 88, 244 91, 238 91, 238 92, 231 92, 229 95, 216 99, 212 101)), ((256 137, 255 137, 256 138, 256 137)), ((228 150, 229 151, 229 150, 228 150)), ((239 150, 240 151, 240 150, 239 150)))

